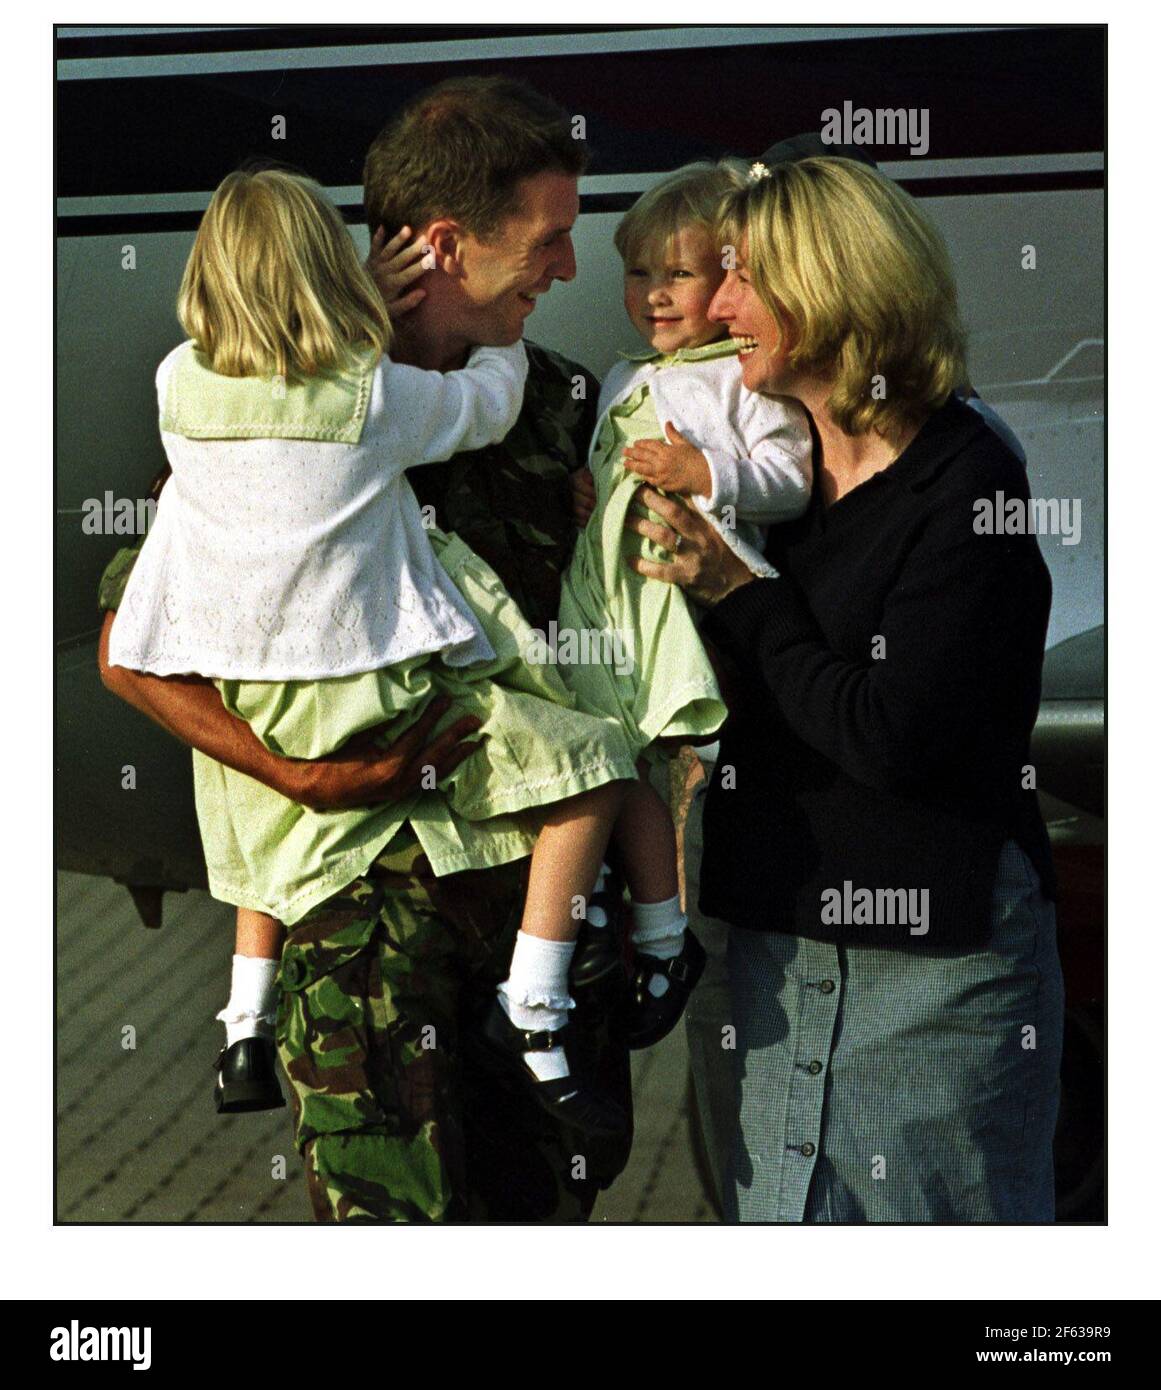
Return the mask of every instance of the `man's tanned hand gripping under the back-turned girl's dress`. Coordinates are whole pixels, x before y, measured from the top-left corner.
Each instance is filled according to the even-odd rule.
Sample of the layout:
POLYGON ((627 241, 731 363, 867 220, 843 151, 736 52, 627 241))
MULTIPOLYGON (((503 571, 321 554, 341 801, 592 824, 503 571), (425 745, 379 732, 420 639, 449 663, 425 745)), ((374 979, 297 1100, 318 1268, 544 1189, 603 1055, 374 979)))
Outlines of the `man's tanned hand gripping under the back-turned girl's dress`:
POLYGON ((420 791, 425 767, 434 767, 435 780, 442 781, 480 746, 478 739, 463 742, 480 727, 480 720, 470 714, 456 720, 428 744, 432 728, 450 703, 446 696, 434 699, 423 719, 389 748, 375 744, 387 727, 382 724, 356 734, 328 758, 292 763, 293 785, 286 788, 285 795, 311 810, 349 810, 403 801, 420 791))

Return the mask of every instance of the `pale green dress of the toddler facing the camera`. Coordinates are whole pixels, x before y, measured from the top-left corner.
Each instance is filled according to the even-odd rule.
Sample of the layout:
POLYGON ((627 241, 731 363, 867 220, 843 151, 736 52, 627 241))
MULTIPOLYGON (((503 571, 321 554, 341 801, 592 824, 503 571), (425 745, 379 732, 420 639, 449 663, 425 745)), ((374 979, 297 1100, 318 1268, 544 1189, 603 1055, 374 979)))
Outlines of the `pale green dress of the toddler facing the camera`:
POLYGON ((652 541, 624 535, 642 480, 626 470, 622 450, 638 439, 665 439, 648 384, 608 411, 594 441, 596 507, 565 573, 559 632, 612 632, 616 642, 606 649, 631 653, 631 662, 585 660, 562 670, 585 708, 613 714, 634 753, 648 751, 655 760, 655 739, 708 738, 727 710, 690 600, 676 584, 645 580, 624 563, 626 553, 669 559, 652 541))

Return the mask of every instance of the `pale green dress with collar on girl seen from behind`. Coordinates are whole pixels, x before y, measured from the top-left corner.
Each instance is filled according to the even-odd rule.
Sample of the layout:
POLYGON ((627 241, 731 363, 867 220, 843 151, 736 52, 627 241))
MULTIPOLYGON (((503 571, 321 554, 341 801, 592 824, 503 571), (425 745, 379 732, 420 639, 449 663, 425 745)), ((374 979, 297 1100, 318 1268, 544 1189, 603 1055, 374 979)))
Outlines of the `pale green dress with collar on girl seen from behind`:
MULTIPOLYGON (((366 361, 362 374, 373 366, 366 361)), ((165 428, 199 439, 359 438, 366 382, 357 371, 316 378, 309 399, 307 388, 293 382, 275 393, 257 378, 241 391, 234 381, 229 407, 213 375, 195 375, 182 399, 170 399, 165 428), (252 418, 256 410, 260 425, 252 418)), ((216 898, 292 926, 362 876, 403 826, 437 877, 488 869, 531 853, 544 808, 635 778, 633 749, 616 720, 587 706, 556 666, 526 659, 542 645, 539 634, 495 571, 459 537, 434 528, 427 534, 484 630, 491 660, 452 667, 437 653, 346 677, 216 685, 225 708, 285 758, 323 758, 380 724, 388 726, 381 741, 389 745, 438 695, 449 695, 452 706, 435 734, 474 714, 481 746, 438 785, 432 770, 432 785, 407 801, 327 812, 195 751, 197 820, 216 898)))

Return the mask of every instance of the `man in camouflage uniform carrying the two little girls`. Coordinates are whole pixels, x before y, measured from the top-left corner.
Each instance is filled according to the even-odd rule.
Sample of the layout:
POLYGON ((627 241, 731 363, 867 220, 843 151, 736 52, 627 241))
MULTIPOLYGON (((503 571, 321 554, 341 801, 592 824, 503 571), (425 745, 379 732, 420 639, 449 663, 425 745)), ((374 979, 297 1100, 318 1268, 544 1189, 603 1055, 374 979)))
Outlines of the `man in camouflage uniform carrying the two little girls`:
MULTIPOLYGON (((446 310, 437 302, 437 292, 460 292, 460 263, 471 279, 460 313, 464 331, 476 334, 467 341, 520 336, 528 313, 521 292, 531 292, 523 293, 524 303, 534 302, 552 279, 576 274, 567 232, 583 167, 583 142, 571 140, 569 117, 506 79, 445 83, 392 121, 367 160, 368 220, 373 229, 380 222, 428 228, 437 264, 448 267, 421 313, 409 316, 396 345, 400 360, 460 364, 442 332, 459 300, 450 299, 446 310), (460 232, 459 245, 444 235, 455 222, 441 220, 455 206, 414 206, 416 181, 428 178, 416 149, 421 153, 427 142, 446 167, 456 140, 467 161, 462 167, 473 170, 477 183, 489 157, 499 171, 496 186, 488 188, 485 178, 477 190, 471 215, 480 236, 460 232), (519 163, 513 168, 520 147, 523 170, 519 163), (562 193, 571 204, 567 225, 538 225, 541 213, 562 204, 562 193), (496 217, 503 236, 495 232, 496 217)), ((469 214, 459 217, 471 224, 469 214)), ((569 474, 587 455, 596 382, 556 353, 527 348, 524 407, 503 443, 417 468, 409 478, 437 524, 463 537, 528 621, 546 628, 576 538, 569 474)), ((121 552, 106 571, 106 607, 120 602, 129 562, 121 552)), ((107 619, 106 642, 108 627, 107 619)), ((186 742, 292 794, 284 760, 260 746, 249 748, 245 760, 231 756, 239 734, 224 723, 229 716, 221 702, 197 688, 202 682, 114 674, 104 664, 103 674, 110 688, 186 742)), ((598 1190, 623 1169, 628 1140, 603 1150, 581 1145, 523 1091, 499 1090, 474 1055, 476 1019, 508 973, 526 881, 527 860, 437 880, 405 828, 363 877, 288 933, 278 1051, 316 1219, 584 1220, 598 1190)), ((591 983, 574 980, 570 1063, 630 1111, 624 988, 619 970, 591 983)))

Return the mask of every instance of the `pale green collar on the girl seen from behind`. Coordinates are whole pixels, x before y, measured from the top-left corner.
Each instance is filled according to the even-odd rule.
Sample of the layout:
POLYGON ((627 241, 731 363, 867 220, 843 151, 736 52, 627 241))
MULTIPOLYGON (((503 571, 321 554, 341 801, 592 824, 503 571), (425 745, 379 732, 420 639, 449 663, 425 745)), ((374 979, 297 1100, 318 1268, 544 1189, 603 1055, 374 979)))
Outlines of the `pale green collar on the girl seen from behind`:
POLYGON ((370 348, 359 348, 342 371, 302 381, 222 377, 190 345, 170 373, 161 428, 186 439, 359 443, 377 361, 370 348))

